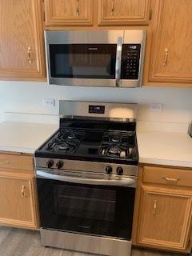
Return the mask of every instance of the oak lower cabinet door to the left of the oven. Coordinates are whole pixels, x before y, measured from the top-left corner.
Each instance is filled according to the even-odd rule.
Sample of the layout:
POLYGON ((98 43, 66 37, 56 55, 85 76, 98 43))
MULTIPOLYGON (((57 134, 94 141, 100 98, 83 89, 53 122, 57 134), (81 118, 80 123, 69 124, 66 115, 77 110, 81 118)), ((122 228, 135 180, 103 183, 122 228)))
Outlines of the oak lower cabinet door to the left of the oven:
POLYGON ((33 178, 18 178, 13 174, 0 176, 0 223, 37 227, 34 205, 33 178))

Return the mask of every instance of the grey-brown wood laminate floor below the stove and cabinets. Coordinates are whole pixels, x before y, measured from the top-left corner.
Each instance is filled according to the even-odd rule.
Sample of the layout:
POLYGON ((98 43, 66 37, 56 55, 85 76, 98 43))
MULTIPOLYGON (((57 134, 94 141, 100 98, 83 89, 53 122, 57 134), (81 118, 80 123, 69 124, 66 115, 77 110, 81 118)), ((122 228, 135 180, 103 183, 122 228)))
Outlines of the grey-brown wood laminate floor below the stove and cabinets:
MULTIPOLYGON (((181 256, 152 250, 132 251, 132 256, 181 256)), ((0 226, 0 256, 95 256, 41 245, 39 232, 0 226)), ((118 256, 118 255, 117 255, 118 256)), ((192 255, 191 255, 192 256, 192 255)))

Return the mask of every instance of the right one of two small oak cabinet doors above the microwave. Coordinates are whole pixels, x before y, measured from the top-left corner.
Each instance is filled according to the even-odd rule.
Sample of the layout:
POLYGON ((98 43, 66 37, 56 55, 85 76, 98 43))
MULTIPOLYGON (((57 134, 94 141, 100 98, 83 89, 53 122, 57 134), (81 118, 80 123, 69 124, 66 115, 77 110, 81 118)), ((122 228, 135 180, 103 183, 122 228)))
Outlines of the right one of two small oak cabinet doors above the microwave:
POLYGON ((147 25, 150 0, 99 0, 99 25, 147 25))

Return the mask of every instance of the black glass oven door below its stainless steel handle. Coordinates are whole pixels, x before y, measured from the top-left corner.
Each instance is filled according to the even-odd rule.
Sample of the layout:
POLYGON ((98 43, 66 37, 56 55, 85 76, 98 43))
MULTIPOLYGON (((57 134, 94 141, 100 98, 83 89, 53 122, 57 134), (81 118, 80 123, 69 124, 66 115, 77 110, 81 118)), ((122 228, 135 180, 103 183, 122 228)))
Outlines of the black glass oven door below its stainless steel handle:
POLYGON ((134 187, 63 182, 42 176, 37 175, 42 228, 130 241, 134 187))

